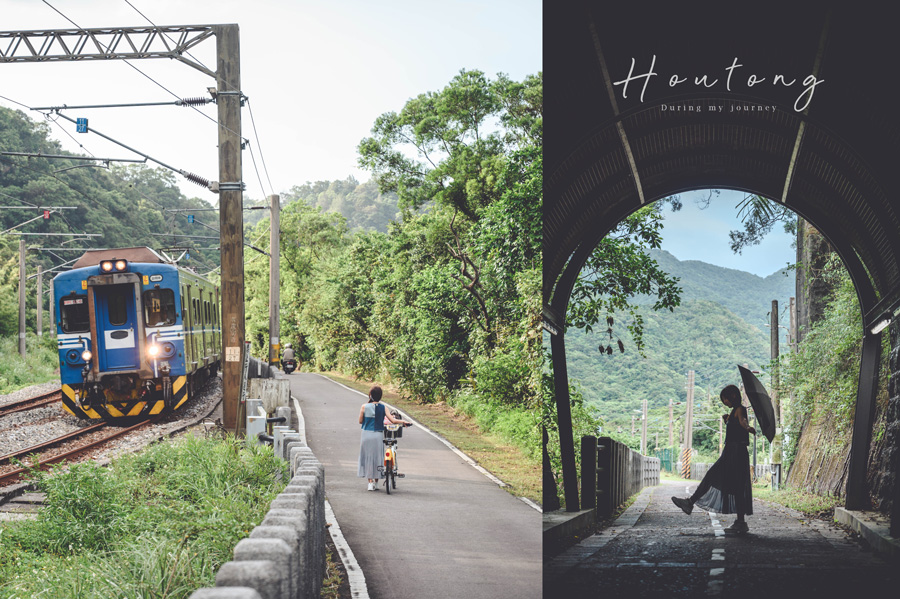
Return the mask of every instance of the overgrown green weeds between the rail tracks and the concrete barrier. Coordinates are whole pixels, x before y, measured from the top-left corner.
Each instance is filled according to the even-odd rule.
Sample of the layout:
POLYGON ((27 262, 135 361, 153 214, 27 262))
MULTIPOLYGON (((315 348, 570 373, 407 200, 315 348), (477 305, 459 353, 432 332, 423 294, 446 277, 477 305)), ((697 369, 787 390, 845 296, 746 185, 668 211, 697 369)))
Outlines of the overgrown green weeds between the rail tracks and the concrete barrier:
POLYGON ((52 476, 36 520, 0 524, 4 597, 188 597, 215 586, 235 544, 284 488, 262 446, 184 437, 52 476))

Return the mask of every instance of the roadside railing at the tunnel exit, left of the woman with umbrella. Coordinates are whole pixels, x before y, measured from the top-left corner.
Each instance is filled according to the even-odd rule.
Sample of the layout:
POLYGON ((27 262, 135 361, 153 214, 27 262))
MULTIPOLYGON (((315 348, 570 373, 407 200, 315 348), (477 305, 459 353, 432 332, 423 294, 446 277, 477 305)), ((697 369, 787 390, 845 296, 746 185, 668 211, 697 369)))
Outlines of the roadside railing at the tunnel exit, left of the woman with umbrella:
POLYGON ((582 509, 609 516, 644 487, 659 484, 660 460, 609 437, 581 438, 582 509))

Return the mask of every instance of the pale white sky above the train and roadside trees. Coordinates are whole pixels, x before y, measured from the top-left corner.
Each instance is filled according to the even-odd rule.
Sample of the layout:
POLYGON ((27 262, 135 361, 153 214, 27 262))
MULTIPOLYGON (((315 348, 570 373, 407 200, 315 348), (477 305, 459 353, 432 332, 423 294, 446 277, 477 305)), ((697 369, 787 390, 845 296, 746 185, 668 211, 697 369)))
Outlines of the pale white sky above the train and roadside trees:
MULTIPOLYGON (((54 8, 83 28, 148 26, 135 8, 157 25, 238 23, 241 87, 249 97, 242 134, 252 146, 252 154, 243 153, 244 181, 252 199, 307 181, 348 175, 369 179, 356 165, 356 146, 369 135, 375 118, 399 111, 420 93, 441 89, 460 69, 479 69, 491 78, 503 72, 515 80, 541 70, 538 0, 0 0, 0 29, 74 28, 54 8)), ((191 54, 215 70, 214 39, 191 54)), ((131 64, 156 83, 123 61, 2 64, 0 96, 29 107, 169 102, 175 98, 166 90, 197 97, 215 85, 207 75, 174 61, 131 64)), ((22 109, 4 99, 0 105, 22 109)), ((65 114, 87 117, 92 128, 110 137, 216 180, 216 107, 200 110, 212 120, 175 106, 65 114)), ((135 157, 96 135, 75 133, 70 123, 59 123, 51 125, 52 136, 66 150, 84 153, 80 143, 95 156, 135 157)), ((213 194, 180 177, 179 185, 190 196, 214 200, 213 194)))

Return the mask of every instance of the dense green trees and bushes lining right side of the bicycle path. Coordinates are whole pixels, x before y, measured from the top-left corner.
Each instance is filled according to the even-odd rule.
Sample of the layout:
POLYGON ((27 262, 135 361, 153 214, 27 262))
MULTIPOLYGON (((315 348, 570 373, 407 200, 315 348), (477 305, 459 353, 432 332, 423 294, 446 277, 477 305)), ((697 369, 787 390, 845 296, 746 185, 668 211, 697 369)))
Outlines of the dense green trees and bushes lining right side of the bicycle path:
MULTIPOLYGON (((353 230, 307 201, 285 206, 281 337, 307 368, 454 403, 535 453, 540 110, 540 75, 517 83, 462 71, 379 117, 360 143, 360 163, 397 196, 402 218, 387 232, 353 230)), ((248 338, 260 353, 266 277, 265 260, 248 261, 248 338)))

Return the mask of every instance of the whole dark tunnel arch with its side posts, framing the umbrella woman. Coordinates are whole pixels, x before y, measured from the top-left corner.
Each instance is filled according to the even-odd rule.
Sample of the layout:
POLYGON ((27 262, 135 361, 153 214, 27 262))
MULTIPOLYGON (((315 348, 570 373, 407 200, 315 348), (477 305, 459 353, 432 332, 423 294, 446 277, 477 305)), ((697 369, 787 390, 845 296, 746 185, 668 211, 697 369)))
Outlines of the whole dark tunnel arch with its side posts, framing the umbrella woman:
MULTIPOLYGON (((747 43, 739 35, 723 34, 716 37, 726 48, 721 54, 695 50, 685 57, 671 31, 681 27, 685 36, 699 35, 714 29, 722 14, 664 10, 671 11, 660 19, 664 24, 654 27, 644 20, 639 30, 622 26, 636 18, 633 7, 612 9, 612 18, 605 7, 571 2, 545 15, 545 37, 558 44, 545 60, 550 125, 544 148, 544 321, 551 332, 567 509, 572 501, 577 508, 577 491, 571 428, 563 430, 571 423, 563 325, 575 278, 593 248, 628 214, 700 188, 735 189, 782 202, 823 233, 850 273, 865 336, 847 507, 860 509, 867 503, 866 460, 880 357, 880 334, 871 328, 900 308, 900 202, 888 188, 894 174, 889 156, 896 153, 900 127, 889 94, 868 98, 866 114, 852 111, 848 102, 858 94, 848 82, 877 74, 879 65, 867 58, 888 56, 890 37, 883 25, 869 22, 864 43, 849 37, 848 31, 864 20, 852 7, 839 14, 824 5, 797 8, 780 14, 776 25, 750 15, 748 29, 755 35, 773 27, 787 28, 791 35, 772 37, 771 47, 758 52, 745 51, 742 61, 754 59, 833 82, 816 92, 806 110, 795 110, 796 93, 759 85, 687 93, 663 85, 647 97, 635 92, 625 98, 615 82, 628 75, 632 59, 635 65, 643 60, 644 71, 651 64, 652 53, 641 51, 642 44, 652 40, 654 56, 679 55, 679 68, 689 64, 699 73, 712 73, 717 65, 721 72, 723 57, 727 65, 747 43)), ((889 420, 887 443, 900 445, 898 426, 889 420)), ((896 497, 900 485, 894 487, 896 497)), ((900 501, 893 503, 892 516, 900 507, 900 501)), ((900 526, 900 518, 892 517, 892 524, 900 526)))

